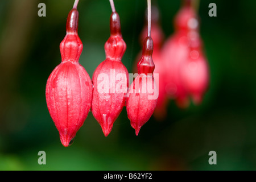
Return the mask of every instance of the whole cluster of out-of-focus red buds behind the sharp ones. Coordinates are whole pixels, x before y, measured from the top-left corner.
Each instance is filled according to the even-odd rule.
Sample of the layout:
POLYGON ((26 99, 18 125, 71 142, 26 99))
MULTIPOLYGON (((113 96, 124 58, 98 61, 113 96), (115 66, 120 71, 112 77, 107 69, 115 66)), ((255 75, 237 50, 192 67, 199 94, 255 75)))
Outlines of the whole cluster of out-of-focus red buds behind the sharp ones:
MULTIPOLYGON (((209 85, 208 61, 199 32, 199 16, 193 0, 183 0, 174 19, 174 34, 164 42, 158 9, 154 8, 151 35, 154 40, 153 59, 158 73, 159 97, 154 115, 164 119, 169 100, 180 108, 189 106, 189 99, 199 105, 209 85)), ((146 34, 146 27, 142 36, 146 34)))

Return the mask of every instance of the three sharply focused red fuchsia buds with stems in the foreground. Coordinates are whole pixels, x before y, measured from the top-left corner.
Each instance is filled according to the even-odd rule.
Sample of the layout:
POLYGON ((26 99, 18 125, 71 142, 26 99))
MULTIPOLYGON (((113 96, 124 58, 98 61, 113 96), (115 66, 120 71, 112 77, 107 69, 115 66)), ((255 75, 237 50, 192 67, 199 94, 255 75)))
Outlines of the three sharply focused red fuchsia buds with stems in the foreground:
MULTIPOLYGON (((60 43, 61 63, 52 71, 46 85, 46 101, 49 114, 60 134, 63 146, 72 144, 77 131, 83 125, 90 109, 107 137, 124 106, 131 126, 138 135, 142 125, 153 114, 158 88, 152 75, 155 65, 152 61, 153 40, 148 35, 144 40, 138 76, 129 86, 129 74, 121 59, 126 51, 122 39, 119 15, 110 0, 110 38, 105 43, 106 59, 93 73, 92 80, 79 64, 82 42, 78 35, 79 12, 75 1, 68 14, 64 40, 60 43), (150 89, 148 89, 150 88, 150 89)), ((148 10, 151 4, 148 0, 148 10)), ((148 11, 151 16, 151 11, 148 11)))

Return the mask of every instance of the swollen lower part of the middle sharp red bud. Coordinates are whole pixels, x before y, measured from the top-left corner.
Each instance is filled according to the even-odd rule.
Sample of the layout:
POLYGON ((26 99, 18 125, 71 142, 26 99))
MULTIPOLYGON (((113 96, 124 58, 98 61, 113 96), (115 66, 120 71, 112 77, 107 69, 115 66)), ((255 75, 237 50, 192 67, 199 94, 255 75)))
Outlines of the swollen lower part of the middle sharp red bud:
POLYGON ((128 72, 121 61, 106 59, 93 73, 92 113, 107 137, 125 106, 128 72))

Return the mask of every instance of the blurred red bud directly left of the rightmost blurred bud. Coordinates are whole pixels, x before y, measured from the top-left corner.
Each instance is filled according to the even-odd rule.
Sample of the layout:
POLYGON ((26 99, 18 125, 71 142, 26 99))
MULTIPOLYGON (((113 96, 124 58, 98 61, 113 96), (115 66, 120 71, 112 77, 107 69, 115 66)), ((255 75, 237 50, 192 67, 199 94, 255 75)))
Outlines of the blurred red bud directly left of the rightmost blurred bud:
POLYGON ((191 28, 198 26, 196 13, 191 3, 191 0, 183 1, 181 9, 174 19, 175 32, 167 39, 162 51, 162 59, 167 69, 167 94, 181 108, 189 105, 188 93, 180 77, 181 65, 187 60, 189 54, 188 32, 191 28))

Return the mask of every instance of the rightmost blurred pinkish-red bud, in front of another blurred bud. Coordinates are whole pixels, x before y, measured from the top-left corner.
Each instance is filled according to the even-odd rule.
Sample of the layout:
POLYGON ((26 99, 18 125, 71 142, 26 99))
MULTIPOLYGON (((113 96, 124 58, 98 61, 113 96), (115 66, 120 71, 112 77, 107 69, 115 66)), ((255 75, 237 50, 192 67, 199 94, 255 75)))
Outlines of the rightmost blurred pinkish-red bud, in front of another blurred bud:
POLYGON ((187 60, 181 66, 181 79, 192 96, 194 104, 201 103, 209 84, 209 68, 202 51, 202 42, 197 31, 189 34, 191 45, 187 60))

